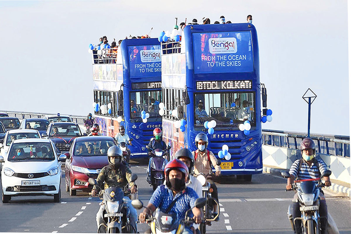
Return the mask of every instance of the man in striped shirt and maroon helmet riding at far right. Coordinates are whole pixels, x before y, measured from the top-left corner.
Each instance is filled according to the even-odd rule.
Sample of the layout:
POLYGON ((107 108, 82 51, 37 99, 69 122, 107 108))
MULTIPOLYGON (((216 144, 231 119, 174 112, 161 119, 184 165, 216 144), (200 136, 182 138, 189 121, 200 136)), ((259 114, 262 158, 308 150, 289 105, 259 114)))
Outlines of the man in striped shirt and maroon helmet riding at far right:
MULTIPOLYGON (((302 152, 302 159, 298 159, 293 162, 290 167, 289 174, 290 177, 287 179, 286 189, 292 189, 292 183, 295 178, 299 180, 303 179, 317 179, 321 175, 324 174, 326 170, 328 170, 324 161, 320 158, 316 158, 316 145, 314 144, 311 138, 304 138, 300 144, 300 149, 302 152)), ((322 178, 325 180, 325 185, 330 186, 329 176, 324 176, 322 178)), ((325 202, 325 197, 323 190, 320 189, 319 193, 319 216, 320 216, 320 228, 322 229, 322 234, 326 233, 326 225, 327 225, 327 205, 325 202)), ((296 217, 301 217, 300 206, 298 203, 298 195, 295 193, 294 198, 292 199, 292 220, 296 217)), ((301 230, 301 220, 296 220, 295 225, 295 233, 302 233, 301 230)))

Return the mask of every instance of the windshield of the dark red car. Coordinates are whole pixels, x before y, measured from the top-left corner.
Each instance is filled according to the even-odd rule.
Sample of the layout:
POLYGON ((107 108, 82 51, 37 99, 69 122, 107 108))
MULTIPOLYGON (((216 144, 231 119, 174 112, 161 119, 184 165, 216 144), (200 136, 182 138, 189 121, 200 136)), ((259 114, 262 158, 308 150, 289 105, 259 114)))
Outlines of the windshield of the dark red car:
POLYGON ((116 143, 111 140, 80 141, 74 146, 74 154, 77 156, 106 156, 107 149, 116 143))

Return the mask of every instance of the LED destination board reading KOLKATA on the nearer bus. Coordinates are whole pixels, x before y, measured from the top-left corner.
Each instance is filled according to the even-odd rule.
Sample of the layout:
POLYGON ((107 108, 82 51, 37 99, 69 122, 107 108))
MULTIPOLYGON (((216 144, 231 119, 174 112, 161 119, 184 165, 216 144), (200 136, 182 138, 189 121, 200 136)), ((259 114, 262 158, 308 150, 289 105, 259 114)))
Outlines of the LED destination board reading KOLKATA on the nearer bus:
POLYGON ((251 89, 251 80, 197 81, 197 90, 211 89, 251 89))

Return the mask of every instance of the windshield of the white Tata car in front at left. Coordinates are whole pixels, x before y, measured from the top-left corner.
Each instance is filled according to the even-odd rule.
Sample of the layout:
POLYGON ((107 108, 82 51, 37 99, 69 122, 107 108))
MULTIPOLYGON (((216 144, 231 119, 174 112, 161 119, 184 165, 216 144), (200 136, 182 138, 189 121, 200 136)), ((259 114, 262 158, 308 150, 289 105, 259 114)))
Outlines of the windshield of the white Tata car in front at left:
POLYGON ((54 159, 51 143, 48 142, 13 143, 8 154, 8 161, 52 161, 54 159))

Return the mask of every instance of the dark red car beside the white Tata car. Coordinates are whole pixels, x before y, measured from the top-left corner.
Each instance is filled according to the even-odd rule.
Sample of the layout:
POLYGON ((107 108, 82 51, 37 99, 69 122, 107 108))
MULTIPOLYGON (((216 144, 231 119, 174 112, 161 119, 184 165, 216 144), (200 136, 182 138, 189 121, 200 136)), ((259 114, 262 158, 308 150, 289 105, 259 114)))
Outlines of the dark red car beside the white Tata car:
POLYGON ((90 177, 96 179, 101 169, 108 165, 107 149, 116 145, 110 136, 81 136, 74 139, 67 156, 66 192, 75 196, 77 190, 90 192, 90 177))

